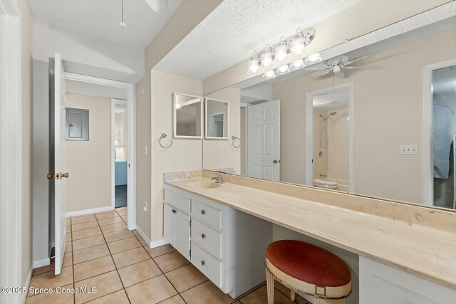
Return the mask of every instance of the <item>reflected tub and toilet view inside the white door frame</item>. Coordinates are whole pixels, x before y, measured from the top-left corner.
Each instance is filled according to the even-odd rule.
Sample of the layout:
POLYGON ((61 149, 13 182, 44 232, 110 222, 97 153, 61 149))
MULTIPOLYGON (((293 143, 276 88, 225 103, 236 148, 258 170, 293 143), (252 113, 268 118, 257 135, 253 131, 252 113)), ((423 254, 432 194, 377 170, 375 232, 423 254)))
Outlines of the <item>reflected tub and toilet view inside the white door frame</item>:
MULTIPOLYGON (((309 144, 313 146, 311 176, 315 187, 349 191, 350 154, 350 94, 348 88, 313 95, 313 131, 309 144)), ((312 126, 312 124, 307 124, 312 126)))

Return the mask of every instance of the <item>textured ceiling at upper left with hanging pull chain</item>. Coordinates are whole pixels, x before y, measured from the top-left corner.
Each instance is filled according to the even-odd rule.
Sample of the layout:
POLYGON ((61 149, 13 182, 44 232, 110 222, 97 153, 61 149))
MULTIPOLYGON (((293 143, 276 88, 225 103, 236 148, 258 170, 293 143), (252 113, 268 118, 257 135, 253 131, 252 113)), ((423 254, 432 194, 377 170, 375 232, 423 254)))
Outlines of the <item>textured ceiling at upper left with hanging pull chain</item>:
POLYGON ((124 0, 126 28, 120 28, 121 0, 28 0, 33 18, 134 48, 146 48, 182 0, 167 0, 155 13, 145 0, 124 0))

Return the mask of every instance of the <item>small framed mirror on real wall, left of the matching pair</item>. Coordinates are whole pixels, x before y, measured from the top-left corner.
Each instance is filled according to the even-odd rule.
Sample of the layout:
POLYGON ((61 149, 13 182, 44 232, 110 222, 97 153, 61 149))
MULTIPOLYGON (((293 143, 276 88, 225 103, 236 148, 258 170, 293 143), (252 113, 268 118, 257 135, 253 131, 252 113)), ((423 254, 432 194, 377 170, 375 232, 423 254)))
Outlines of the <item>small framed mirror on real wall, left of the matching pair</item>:
POLYGON ((202 97, 174 93, 175 138, 202 138, 202 97))

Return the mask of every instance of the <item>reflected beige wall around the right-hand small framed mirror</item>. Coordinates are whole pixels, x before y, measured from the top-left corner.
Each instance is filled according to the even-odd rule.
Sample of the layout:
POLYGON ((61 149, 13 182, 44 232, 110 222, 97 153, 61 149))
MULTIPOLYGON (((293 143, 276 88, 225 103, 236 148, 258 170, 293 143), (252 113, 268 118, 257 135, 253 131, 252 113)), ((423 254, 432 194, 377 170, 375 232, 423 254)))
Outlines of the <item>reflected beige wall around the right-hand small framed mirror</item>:
MULTIPOLYGON (((203 167, 204 169, 234 168, 237 174, 241 172, 241 149, 232 145, 232 135, 244 137, 241 134, 241 90, 225 88, 206 96, 219 100, 227 100, 229 106, 228 140, 204 140, 203 167)), ((236 142, 239 145, 239 142, 236 142)))

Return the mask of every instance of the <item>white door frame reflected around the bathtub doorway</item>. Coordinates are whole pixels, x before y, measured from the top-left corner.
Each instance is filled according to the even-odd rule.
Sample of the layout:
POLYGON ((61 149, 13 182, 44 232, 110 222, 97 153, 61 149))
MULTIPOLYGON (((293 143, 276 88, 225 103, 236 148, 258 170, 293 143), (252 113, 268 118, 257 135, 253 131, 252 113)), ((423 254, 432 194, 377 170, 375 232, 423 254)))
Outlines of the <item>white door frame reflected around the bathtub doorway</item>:
POLYGON ((350 117, 350 122, 348 123, 348 182, 349 190, 348 192, 355 192, 355 182, 353 177, 353 125, 354 125, 354 115, 353 115, 353 83, 343 83, 341 85, 335 85, 334 87, 323 88, 320 90, 314 90, 306 92, 306 107, 305 107, 305 117, 306 117, 306 131, 305 142, 306 142, 306 162, 305 162, 305 174, 304 180, 306 185, 314 186, 314 164, 312 159, 314 159, 314 106, 312 100, 316 95, 322 95, 327 93, 332 93, 333 90, 346 90, 348 89, 348 117, 350 117))

